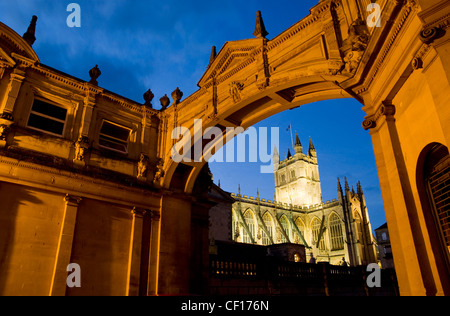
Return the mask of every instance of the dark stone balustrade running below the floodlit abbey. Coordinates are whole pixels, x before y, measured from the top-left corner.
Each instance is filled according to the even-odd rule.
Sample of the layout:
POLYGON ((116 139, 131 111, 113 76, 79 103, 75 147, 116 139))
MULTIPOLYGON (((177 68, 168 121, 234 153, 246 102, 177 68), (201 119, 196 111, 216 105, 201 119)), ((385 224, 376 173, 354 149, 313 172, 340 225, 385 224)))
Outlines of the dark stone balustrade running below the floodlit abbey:
POLYGON ((369 288, 365 267, 282 262, 210 260, 212 295, 398 295, 393 270, 382 270, 381 288, 369 288))

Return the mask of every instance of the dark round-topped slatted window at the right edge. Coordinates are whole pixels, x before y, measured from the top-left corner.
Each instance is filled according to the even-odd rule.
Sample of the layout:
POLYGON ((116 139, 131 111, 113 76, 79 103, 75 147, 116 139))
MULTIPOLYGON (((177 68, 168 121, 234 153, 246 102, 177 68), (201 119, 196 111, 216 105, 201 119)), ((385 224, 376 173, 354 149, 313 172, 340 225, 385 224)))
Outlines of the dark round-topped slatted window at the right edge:
POLYGON ((450 255, 450 156, 445 146, 436 145, 428 154, 424 180, 435 227, 450 255))

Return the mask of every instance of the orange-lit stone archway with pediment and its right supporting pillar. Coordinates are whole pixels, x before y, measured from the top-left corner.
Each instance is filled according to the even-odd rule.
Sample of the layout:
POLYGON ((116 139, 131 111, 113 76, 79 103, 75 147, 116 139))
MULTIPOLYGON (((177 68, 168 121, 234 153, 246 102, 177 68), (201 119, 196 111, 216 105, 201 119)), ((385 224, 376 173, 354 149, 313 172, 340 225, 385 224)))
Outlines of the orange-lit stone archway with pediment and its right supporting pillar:
MULTIPOLYGON (((413 124, 411 119, 420 112, 408 89, 428 87, 420 97, 433 104, 433 117, 442 125, 422 136, 450 137, 444 127, 448 125, 444 123, 448 97, 442 92, 449 89, 445 75, 450 67, 445 53, 449 23, 443 13, 449 7, 445 1, 435 1, 431 7, 413 0, 379 1, 382 23, 369 28, 365 20, 370 12, 364 10, 367 4, 323 0, 310 15, 272 40, 266 39, 264 32, 256 32, 254 39, 226 43, 217 55, 213 50, 198 83, 200 89, 183 101, 174 91, 173 105, 162 114, 164 133, 159 151, 165 162, 165 178, 160 185, 189 195, 206 163, 176 163, 171 159, 171 149, 178 141, 172 139, 171 132, 176 127, 183 126, 194 135, 194 122, 201 119, 203 130, 218 127, 222 131, 219 143, 224 144, 227 128, 245 129, 314 101, 355 98, 367 114, 363 128, 370 130, 373 139, 401 292, 432 294, 436 293, 433 273, 424 271, 432 271, 435 262, 418 257, 418 249, 422 253, 431 249, 417 211, 417 190, 409 181, 415 169, 405 160, 409 154, 419 153, 409 145, 408 123, 403 122, 413 124), (422 70, 426 65, 441 82, 422 70), (404 116, 411 104, 414 114, 404 116), (421 236, 417 229, 423 230, 421 236)), ((257 20, 257 29, 258 23, 261 21, 257 20)), ((425 122, 416 127, 420 124, 425 122)), ((192 148, 203 141, 194 136, 187 139, 192 148)))

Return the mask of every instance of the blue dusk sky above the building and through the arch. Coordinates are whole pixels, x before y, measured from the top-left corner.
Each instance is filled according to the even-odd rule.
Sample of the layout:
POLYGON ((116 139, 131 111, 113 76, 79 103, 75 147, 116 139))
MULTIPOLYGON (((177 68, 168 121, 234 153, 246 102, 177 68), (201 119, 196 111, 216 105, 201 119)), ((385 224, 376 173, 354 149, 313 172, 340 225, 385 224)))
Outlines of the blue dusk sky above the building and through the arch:
MULTIPOLYGON (((184 98, 194 93, 206 70, 211 47, 253 38, 261 10, 270 40, 308 15, 318 0, 143 1, 143 0, 16 0, 0 1, 0 21, 22 35, 38 16, 33 46, 41 62, 83 80, 98 65, 99 86, 143 103, 151 89, 154 106, 176 87, 184 98), (81 27, 69 28, 71 2, 81 7, 81 27)), ((323 200, 337 198, 337 178, 348 178, 356 190, 361 181, 372 228, 385 223, 373 147, 362 105, 355 100, 307 104, 260 122, 280 128, 280 156, 293 152, 289 124, 307 152, 311 137, 317 150, 323 200)), ((261 163, 213 163, 214 181, 224 190, 273 200, 273 174, 261 174, 261 163)))

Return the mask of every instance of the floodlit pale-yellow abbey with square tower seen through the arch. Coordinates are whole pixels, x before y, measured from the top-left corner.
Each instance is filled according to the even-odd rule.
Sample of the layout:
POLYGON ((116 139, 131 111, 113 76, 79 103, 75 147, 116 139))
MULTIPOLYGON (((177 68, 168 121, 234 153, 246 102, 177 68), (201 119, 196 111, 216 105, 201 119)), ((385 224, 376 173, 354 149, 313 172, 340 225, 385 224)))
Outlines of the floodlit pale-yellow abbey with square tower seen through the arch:
MULTIPOLYGON (((295 154, 274 153, 275 199, 232 194, 232 240, 273 245, 301 244, 307 259, 351 266, 378 262, 376 240, 361 184, 357 192, 338 180, 337 199, 322 202, 317 153, 305 155, 298 135, 295 154)), ((214 208, 213 208, 214 210, 214 208)))

